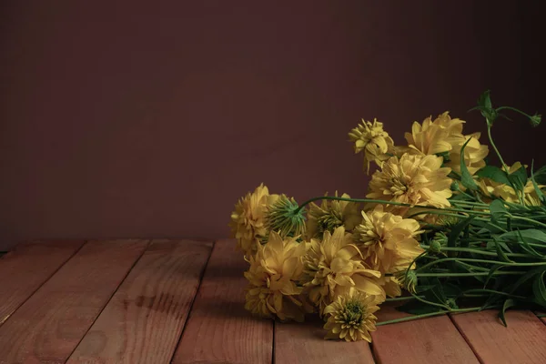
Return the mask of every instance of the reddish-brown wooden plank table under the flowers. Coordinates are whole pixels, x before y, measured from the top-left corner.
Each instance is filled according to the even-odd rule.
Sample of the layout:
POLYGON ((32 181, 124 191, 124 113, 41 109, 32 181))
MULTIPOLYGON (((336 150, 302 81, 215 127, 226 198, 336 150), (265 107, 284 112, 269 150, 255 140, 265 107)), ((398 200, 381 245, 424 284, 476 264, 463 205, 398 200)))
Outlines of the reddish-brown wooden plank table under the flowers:
MULTIPOLYGON (((546 321, 510 311, 380 327, 255 319, 233 240, 41 241, 0 258, 0 363, 546 363, 546 321)), ((379 319, 399 315, 382 308, 379 319)))

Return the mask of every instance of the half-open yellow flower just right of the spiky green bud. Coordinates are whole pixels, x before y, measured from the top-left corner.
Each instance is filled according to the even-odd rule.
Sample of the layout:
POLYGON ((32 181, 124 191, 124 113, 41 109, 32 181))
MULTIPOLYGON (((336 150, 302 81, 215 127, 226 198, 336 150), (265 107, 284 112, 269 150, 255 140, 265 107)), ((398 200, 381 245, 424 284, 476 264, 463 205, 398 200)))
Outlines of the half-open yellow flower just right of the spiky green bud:
MULTIPOLYGON (((336 191, 336 197, 338 192, 336 191)), ((350 198, 348 194, 341 197, 350 198)), ((322 200, 320 207, 314 202, 308 212, 308 237, 322 238, 325 231, 334 232, 336 227, 352 230, 359 224, 359 204, 349 201, 322 200)))

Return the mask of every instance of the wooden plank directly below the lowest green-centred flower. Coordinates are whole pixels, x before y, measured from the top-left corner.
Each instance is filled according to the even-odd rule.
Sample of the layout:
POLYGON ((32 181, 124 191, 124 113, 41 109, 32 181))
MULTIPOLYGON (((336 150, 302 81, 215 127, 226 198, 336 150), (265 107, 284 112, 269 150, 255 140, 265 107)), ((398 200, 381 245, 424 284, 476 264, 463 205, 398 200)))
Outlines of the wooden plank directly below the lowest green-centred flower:
POLYGON ((325 340, 324 322, 309 317, 305 323, 275 323, 275 363, 373 364, 366 341, 325 340))

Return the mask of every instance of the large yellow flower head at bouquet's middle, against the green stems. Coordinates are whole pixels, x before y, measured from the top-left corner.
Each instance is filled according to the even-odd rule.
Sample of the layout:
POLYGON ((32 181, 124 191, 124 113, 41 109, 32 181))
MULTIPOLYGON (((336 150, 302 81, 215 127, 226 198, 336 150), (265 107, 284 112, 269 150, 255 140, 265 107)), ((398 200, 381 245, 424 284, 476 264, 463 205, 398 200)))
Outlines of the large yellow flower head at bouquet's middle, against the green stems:
POLYGON ((393 273, 400 262, 410 262, 424 250, 415 238, 419 222, 383 211, 378 205, 372 211, 362 211, 362 222, 355 228, 354 239, 363 258, 382 274, 393 273))

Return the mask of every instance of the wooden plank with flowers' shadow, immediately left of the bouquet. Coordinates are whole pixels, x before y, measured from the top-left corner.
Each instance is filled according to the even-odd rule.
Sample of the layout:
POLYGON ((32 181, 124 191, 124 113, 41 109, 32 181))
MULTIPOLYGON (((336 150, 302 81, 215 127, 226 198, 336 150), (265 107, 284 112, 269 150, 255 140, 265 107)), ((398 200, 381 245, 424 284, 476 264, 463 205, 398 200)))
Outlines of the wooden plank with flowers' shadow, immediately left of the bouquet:
POLYGON ((234 240, 217 241, 173 364, 271 362, 273 321, 244 308, 247 268, 234 240))

